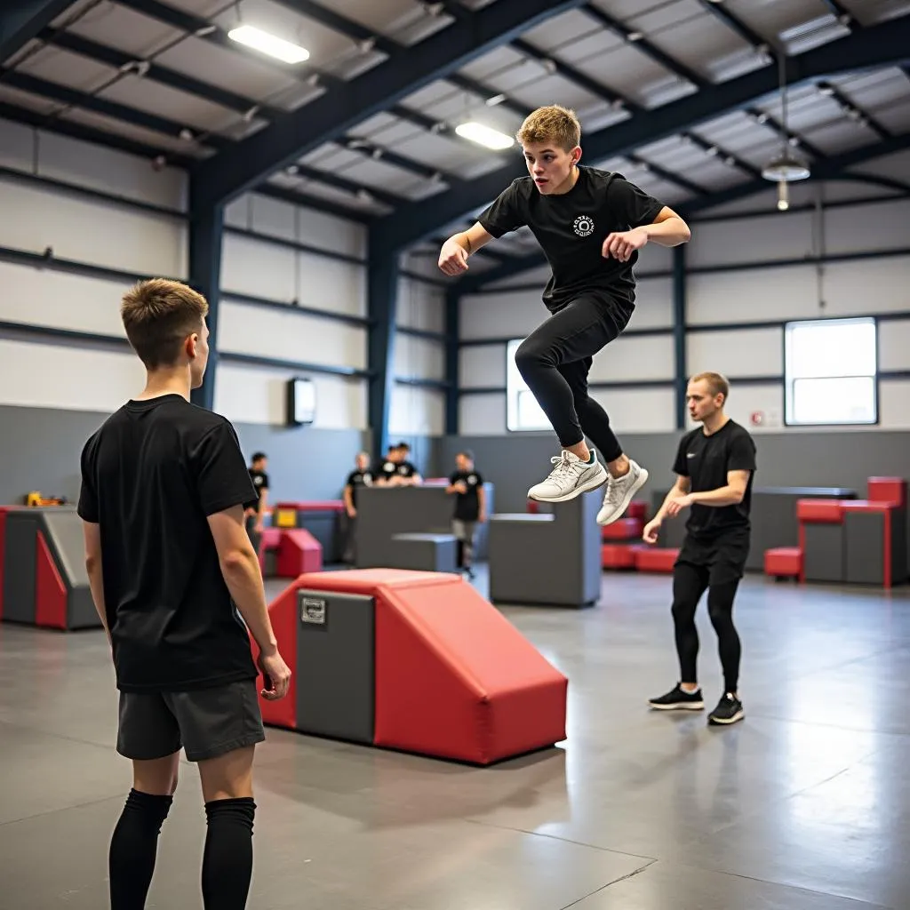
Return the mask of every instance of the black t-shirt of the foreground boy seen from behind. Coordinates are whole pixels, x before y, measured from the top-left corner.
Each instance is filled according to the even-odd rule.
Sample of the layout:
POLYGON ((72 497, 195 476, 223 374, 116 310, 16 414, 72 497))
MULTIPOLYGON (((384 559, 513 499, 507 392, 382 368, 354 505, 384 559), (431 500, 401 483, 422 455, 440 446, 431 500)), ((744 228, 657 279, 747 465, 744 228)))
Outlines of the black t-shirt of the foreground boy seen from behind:
POLYGON ((100 525, 119 689, 256 677, 207 523, 255 496, 234 428, 179 395, 128 401, 86 442, 77 511, 100 525))

